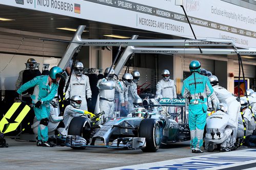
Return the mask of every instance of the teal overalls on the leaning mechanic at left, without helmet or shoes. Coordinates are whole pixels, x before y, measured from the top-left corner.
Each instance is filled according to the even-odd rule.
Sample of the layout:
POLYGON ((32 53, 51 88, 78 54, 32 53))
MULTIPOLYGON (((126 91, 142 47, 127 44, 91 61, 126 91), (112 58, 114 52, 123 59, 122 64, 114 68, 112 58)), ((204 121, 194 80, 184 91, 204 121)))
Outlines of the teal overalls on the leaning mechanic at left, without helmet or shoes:
MULTIPOLYGON (((32 103, 35 104, 37 101, 41 100, 42 105, 40 108, 34 107, 35 117, 38 121, 42 119, 49 118, 50 115, 50 104, 54 98, 58 84, 52 83, 49 85, 48 76, 37 76, 31 81, 23 84, 17 92, 21 94, 23 91, 27 90, 30 87, 34 87, 33 95, 31 95, 32 103)), ((42 140, 43 142, 48 140, 48 127, 47 125, 40 124, 38 128, 38 140, 42 140)))

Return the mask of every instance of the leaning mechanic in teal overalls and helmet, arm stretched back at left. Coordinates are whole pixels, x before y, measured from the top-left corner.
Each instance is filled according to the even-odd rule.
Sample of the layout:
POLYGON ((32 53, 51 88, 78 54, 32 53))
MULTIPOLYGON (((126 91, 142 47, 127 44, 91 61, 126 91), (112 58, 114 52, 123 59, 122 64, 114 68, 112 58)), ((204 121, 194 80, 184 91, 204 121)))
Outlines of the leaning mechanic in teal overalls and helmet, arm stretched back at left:
POLYGON ((23 91, 30 87, 34 87, 33 94, 31 95, 32 103, 34 104, 35 117, 40 121, 40 128, 38 128, 38 141, 37 146, 52 147, 53 145, 48 142, 48 123, 50 114, 49 102, 54 98, 58 81, 61 78, 66 78, 66 72, 60 67, 54 66, 49 71, 49 76, 37 76, 31 81, 23 84, 16 92, 15 96, 21 94, 23 91))

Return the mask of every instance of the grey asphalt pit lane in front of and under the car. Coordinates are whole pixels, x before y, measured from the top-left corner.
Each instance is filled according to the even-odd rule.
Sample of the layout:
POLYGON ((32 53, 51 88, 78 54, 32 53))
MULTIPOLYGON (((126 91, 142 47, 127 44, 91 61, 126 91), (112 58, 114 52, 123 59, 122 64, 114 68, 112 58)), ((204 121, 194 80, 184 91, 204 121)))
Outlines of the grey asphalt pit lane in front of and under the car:
MULTIPOLYGON (((191 153, 188 141, 162 147, 156 153, 143 153, 141 150, 105 148, 85 150, 72 150, 68 147, 45 148, 36 147, 35 142, 17 142, 10 138, 6 140, 9 148, 0 148, 0 169, 105 169, 199 156, 191 153)), ((238 151, 245 153, 243 149, 238 151)), ((219 152, 214 153, 219 154, 219 152)), ((250 152, 252 153, 256 154, 250 152)), ((208 154, 210 153, 205 152, 200 156, 208 154)), ((245 153, 244 156, 246 155, 249 154, 245 153)))

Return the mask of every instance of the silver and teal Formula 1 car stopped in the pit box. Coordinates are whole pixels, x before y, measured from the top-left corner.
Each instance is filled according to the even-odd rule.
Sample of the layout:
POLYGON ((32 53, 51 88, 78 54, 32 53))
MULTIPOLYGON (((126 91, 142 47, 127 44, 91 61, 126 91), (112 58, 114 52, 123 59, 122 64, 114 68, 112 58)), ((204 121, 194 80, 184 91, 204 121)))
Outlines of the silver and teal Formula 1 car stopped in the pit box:
POLYGON ((93 126, 87 117, 73 117, 65 145, 72 149, 97 147, 156 152, 161 143, 190 140, 188 125, 177 123, 163 108, 185 107, 185 99, 163 98, 160 103, 156 99, 145 99, 142 106, 128 117, 110 118, 100 126, 93 126), (96 144, 98 140, 103 143, 96 144))

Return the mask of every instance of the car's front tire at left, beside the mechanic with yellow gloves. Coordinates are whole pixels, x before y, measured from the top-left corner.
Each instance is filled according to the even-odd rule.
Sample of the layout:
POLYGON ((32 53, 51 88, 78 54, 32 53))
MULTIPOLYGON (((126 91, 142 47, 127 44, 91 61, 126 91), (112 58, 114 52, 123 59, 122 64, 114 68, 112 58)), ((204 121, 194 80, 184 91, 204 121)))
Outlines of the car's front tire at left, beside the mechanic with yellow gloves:
MULTIPOLYGON (((78 135, 82 137, 83 128, 86 120, 87 118, 82 116, 73 117, 68 127, 68 135, 78 135)), ((74 150, 84 150, 86 147, 70 147, 70 148, 74 150)))

